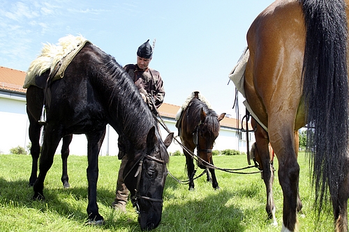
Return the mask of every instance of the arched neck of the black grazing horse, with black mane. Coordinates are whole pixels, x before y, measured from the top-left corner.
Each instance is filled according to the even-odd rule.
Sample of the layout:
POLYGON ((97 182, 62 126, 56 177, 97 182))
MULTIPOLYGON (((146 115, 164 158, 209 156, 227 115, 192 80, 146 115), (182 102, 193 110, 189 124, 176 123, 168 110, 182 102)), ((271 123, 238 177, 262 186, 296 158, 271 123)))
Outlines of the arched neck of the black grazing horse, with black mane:
MULTIPOLYGON (((155 124, 151 111, 144 104, 138 89, 124 68, 101 49, 90 48, 94 49, 96 56, 104 63, 101 68, 94 67, 98 73, 92 77, 91 85, 97 88, 96 92, 107 112, 107 123, 136 148, 144 146, 147 133, 151 125, 155 124)), ((95 72, 94 70, 91 72, 95 72)))

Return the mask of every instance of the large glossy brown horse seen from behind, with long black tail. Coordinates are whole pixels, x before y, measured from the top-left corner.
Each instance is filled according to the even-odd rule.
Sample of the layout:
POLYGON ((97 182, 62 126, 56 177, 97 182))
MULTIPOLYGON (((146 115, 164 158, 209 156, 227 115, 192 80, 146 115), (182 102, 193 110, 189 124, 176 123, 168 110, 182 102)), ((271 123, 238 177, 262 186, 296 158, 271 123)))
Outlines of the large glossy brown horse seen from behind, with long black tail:
MULTIPOLYGON (((348 1, 275 1, 251 24, 244 90, 279 160, 283 231, 297 230, 295 131, 309 125, 315 206, 329 190, 336 231, 348 231, 348 1)), ((265 145, 264 145, 265 146, 265 145)))

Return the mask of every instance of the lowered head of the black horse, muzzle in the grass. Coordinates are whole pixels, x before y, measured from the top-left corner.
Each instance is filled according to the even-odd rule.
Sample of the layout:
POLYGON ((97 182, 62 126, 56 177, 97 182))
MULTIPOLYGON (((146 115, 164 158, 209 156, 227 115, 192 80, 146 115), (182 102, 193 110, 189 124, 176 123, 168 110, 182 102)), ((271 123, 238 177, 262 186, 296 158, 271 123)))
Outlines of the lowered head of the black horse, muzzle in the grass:
POLYGON ((129 159, 124 170, 124 183, 131 192, 133 206, 138 210, 138 221, 142 230, 156 228, 161 221, 163 188, 167 176, 167 152, 173 139, 168 134, 165 141, 151 127, 147 135, 147 147, 129 159))

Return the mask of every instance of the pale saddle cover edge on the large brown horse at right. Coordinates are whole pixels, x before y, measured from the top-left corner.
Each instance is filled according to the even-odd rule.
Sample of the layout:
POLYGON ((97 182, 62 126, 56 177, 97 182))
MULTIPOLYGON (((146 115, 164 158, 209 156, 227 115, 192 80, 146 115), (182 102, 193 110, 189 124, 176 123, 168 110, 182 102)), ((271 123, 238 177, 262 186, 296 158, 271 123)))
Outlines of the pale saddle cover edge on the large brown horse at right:
POLYGON ((235 87, 237 88, 237 91, 239 91, 242 94, 242 96, 245 98, 243 103, 244 103, 246 109, 250 112, 250 114, 253 116, 253 118, 255 118, 255 121, 258 121, 258 123, 260 123, 260 125, 266 131, 268 131, 268 128, 260 122, 259 118, 252 111, 250 105, 248 104, 248 102, 246 100, 246 94, 245 94, 245 90, 244 90, 244 81, 245 81, 245 70, 246 70, 246 65, 247 65, 247 61, 248 61, 249 56, 250 56, 250 50, 248 49, 248 47, 246 47, 246 49, 244 49, 244 52, 242 53, 242 56, 240 56, 239 61, 237 61, 237 64, 230 72, 229 79, 231 79, 232 82, 234 82, 235 87))

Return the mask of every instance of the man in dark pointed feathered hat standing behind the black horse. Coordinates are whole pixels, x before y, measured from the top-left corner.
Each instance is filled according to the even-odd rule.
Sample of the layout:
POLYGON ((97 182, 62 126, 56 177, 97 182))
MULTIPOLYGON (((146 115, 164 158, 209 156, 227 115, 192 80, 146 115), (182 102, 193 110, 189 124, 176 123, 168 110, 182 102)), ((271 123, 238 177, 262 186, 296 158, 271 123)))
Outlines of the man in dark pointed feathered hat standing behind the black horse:
MULTIPOLYGON (((156 113, 151 102, 154 102, 156 108, 160 107, 163 103, 165 96, 165 90, 163 88, 163 80, 160 73, 154 69, 149 68, 149 63, 153 56, 153 48, 149 44, 149 40, 144 42, 137 51, 137 64, 128 64, 124 67, 126 72, 130 75, 133 82, 138 87, 140 95, 144 102, 147 102, 149 109, 156 113)), ((119 160, 121 160, 119 175, 117 178, 117 190, 115 193, 115 199, 112 203, 114 209, 119 209, 126 212, 126 203, 128 200, 129 191, 124 184, 124 168, 128 161, 127 154, 125 154, 126 146, 128 142, 119 134, 119 160)))

